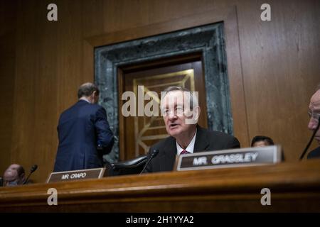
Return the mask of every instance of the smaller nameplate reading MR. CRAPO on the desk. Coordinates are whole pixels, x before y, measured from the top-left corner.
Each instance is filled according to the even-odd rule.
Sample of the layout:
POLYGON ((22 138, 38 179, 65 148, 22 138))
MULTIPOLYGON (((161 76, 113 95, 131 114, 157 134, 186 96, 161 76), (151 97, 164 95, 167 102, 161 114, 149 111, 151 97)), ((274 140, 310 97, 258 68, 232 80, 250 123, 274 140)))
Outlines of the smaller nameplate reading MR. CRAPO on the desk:
POLYGON ((52 172, 47 179, 47 183, 68 182, 76 179, 99 179, 104 177, 104 175, 105 168, 52 172))

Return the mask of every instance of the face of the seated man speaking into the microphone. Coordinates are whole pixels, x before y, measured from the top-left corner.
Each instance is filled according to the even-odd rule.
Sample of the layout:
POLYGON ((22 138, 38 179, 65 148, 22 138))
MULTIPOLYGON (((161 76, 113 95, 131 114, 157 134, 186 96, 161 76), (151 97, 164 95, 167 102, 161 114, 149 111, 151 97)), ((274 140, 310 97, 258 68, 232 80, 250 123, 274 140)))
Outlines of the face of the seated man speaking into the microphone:
POLYGON ((191 121, 195 118, 196 114, 197 121, 198 114, 200 113, 199 107, 194 108, 193 111, 189 108, 185 109, 185 106, 183 106, 183 94, 184 92, 181 91, 172 91, 161 100, 161 111, 164 114, 166 131, 175 138, 183 133, 193 131, 196 122, 190 123, 186 120, 191 121))

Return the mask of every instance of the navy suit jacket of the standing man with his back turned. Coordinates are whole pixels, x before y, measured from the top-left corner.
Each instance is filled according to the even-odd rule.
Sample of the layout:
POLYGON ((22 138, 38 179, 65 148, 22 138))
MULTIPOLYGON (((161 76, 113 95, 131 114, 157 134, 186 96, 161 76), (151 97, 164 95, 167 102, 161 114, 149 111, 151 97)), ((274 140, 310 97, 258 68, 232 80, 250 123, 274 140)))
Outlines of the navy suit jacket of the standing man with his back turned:
POLYGON ((102 106, 79 100, 61 114, 57 129, 54 172, 103 166, 102 155, 110 153, 114 138, 102 106))

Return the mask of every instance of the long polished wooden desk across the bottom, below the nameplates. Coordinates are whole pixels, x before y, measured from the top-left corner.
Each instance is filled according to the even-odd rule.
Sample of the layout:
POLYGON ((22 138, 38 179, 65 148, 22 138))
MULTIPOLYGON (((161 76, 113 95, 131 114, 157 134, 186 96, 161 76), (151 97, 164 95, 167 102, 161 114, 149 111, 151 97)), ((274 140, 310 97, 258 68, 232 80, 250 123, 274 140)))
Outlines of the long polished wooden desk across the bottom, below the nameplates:
POLYGON ((320 160, 3 187, 0 211, 319 212, 320 160), (271 206, 260 203, 265 187, 271 206), (58 206, 48 206, 49 188, 58 206))

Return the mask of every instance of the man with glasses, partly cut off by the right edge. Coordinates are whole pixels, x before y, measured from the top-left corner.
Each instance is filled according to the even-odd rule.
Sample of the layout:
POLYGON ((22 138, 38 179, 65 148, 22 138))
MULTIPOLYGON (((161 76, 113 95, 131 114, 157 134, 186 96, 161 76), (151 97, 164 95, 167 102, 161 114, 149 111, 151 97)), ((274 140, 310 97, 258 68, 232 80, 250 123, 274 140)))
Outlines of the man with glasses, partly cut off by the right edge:
MULTIPOLYGON (((310 117, 308 128, 311 131, 315 131, 316 126, 318 126, 319 117, 320 117, 320 85, 318 86, 318 90, 316 91, 316 93, 314 93, 314 95, 311 96, 308 113, 310 117)), ((314 138, 318 141, 320 145, 320 129, 316 132, 316 135, 314 135, 314 138)), ((311 159, 311 158, 319 158, 319 157, 320 157, 320 147, 314 150, 311 150, 311 152, 306 158, 311 159)))

